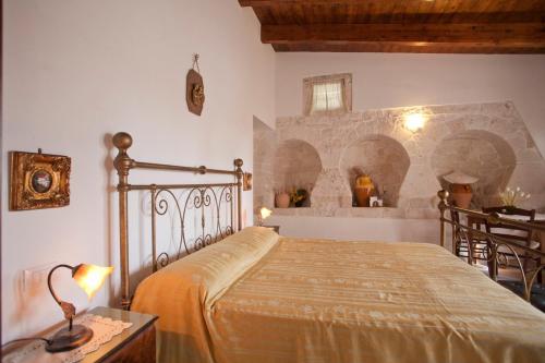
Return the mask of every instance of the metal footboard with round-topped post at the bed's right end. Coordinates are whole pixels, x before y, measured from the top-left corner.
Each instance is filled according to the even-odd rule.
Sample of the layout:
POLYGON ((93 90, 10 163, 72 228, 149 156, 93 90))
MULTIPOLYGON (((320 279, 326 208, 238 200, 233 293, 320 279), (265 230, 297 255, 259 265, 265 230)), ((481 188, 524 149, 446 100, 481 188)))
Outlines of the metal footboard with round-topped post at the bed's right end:
MULTIPOLYGON (((542 251, 533 250, 528 246, 518 244, 508 238, 500 237, 498 234, 488 233, 481 230, 480 228, 473 227, 473 225, 463 223, 460 216, 467 216, 473 218, 473 220, 480 220, 484 223, 491 225, 501 225, 501 228, 508 229, 509 227, 516 229, 522 229, 529 233, 542 233, 545 235, 545 223, 520 221, 510 218, 501 218, 497 213, 486 214, 471 209, 458 208, 448 203, 449 193, 447 191, 439 191, 437 195, 440 198, 438 208, 440 211, 440 245, 445 246, 447 239, 447 228, 446 225, 451 226, 451 238, 452 238, 452 253, 467 257, 470 265, 473 264, 474 252, 472 249, 473 241, 479 240, 484 242, 484 247, 482 251, 477 251, 485 255, 485 261, 488 265, 488 273, 493 280, 497 281, 497 266, 500 263, 501 252, 498 251, 499 247, 504 246, 508 253, 516 261, 516 267, 521 271, 522 282, 524 283, 523 298, 530 301, 532 294, 532 286, 538 279, 540 274, 545 275, 545 253, 542 251), (446 213, 450 211, 450 218, 446 217, 446 213), (460 247, 463 245, 465 255, 461 255, 460 247), (521 256, 524 254, 525 256, 521 256), (535 261, 535 266, 532 269, 524 269, 522 259, 532 257, 535 261)), ((545 241, 541 241, 545 243, 545 241)))

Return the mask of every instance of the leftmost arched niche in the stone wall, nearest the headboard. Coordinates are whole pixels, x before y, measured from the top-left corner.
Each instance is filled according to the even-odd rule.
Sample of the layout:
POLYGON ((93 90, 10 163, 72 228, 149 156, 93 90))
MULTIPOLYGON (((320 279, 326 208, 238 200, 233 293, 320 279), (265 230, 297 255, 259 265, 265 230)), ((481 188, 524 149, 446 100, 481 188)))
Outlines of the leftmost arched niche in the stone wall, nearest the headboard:
MULTIPOLYGON (((280 143, 276 149, 274 171, 276 192, 303 187, 312 194, 322 171, 322 160, 316 149, 307 142, 288 140, 280 143)), ((305 206, 310 206, 310 202, 305 206)))

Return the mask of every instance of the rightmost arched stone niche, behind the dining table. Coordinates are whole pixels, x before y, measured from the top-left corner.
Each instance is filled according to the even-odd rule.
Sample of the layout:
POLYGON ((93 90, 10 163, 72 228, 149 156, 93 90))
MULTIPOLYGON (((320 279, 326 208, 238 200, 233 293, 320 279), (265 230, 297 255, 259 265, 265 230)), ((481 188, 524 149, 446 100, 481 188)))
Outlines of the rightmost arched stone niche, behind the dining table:
POLYGON ((455 170, 479 178, 473 185, 475 208, 497 203, 517 164, 511 146, 500 136, 483 130, 468 130, 444 138, 431 160, 444 189, 448 189, 448 183, 443 177, 455 170))

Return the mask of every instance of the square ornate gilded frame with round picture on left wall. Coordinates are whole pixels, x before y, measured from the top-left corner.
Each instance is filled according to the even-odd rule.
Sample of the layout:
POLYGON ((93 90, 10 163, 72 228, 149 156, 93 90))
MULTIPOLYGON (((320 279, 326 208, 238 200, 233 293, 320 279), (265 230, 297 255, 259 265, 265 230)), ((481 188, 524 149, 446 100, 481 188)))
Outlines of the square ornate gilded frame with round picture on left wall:
POLYGON ((70 204, 69 157, 23 152, 12 152, 10 156, 10 210, 70 204))

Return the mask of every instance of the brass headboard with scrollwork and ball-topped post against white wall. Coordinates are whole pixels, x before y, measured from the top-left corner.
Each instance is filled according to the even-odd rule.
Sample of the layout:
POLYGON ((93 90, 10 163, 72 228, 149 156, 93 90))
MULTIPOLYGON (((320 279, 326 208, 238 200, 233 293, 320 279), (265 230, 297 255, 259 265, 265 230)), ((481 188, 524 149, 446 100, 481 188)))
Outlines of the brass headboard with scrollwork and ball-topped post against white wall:
POLYGON ((173 165, 154 164, 136 161, 129 157, 126 150, 131 147, 133 140, 130 134, 120 132, 113 135, 113 145, 118 148, 119 153, 113 160, 119 176, 118 192, 119 192, 119 242, 120 242, 120 269, 121 269, 121 306, 129 308, 131 304, 130 295, 130 274, 129 274, 129 192, 131 191, 148 191, 150 194, 150 219, 152 219, 152 258, 153 271, 157 271, 160 267, 165 267, 172 257, 168 252, 157 254, 157 230, 156 220, 157 216, 165 215, 169 208, 168 202, 165 196, 173 198, 177 211, 179 214, 181 231, 178 252, 175 258, 179 258, 183 252, 191 253, 187 246, 187 239, 185 235, 185 213, 189 205, 195 210, 201 211, 201 226, 202 234, 194 240, 193 250, 199 250, 208 244, 217 242, 222 238, 234 232, 234 222, 237 222, 237 230, 242 229, 242 159, 234 159, 234 170, 219 170, 208 169, 204 166, 182 167, 173 165), (130 184, 129 172, 132 169, 155 169, 164 171, 181 171, 192 172, 198 174, 223 174, 233 177, 234 182, 229 183, 210 183, 210 184, 130 184), (237 189, 235 203, 233 198, 233 189, 237 189), (187 194, 182 198, 182 203, 172 192, 173 190, 186 191, 187 194), (219 194, 219 198, 218 198, 219 194), (227 216, 229 222, 221 226, 220 211, 222 203, 229 204, 230 216, 227 216), (205 230, 206 218, 205 209, 209 208, 216 213, 216 222, 213 220, 214 232, 211 234, 205 230), (233 210, 235 209, 235 211, 233 210), (182 246, 184 251, 182 251, 182 246))

